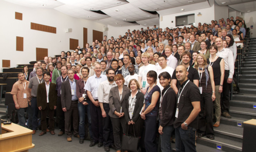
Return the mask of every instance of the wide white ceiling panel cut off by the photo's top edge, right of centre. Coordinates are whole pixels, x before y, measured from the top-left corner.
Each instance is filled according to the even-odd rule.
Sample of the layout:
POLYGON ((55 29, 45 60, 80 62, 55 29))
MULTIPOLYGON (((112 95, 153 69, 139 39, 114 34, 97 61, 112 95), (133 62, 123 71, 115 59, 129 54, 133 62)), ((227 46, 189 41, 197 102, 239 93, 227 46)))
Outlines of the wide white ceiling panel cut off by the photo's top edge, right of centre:
MULTIPOLYGON (((154 8, 159 8, 158 10, 165 10, 167 8, 173 8, 177 6, 189 5, 192 3, 205 2, 206 0, 193 0, 193 2, 188 3, 189 0, 127 0, 134 6, 147 11, 156 11, 154 8)), ((157 11, 158 11, 157 10, 157 11)))

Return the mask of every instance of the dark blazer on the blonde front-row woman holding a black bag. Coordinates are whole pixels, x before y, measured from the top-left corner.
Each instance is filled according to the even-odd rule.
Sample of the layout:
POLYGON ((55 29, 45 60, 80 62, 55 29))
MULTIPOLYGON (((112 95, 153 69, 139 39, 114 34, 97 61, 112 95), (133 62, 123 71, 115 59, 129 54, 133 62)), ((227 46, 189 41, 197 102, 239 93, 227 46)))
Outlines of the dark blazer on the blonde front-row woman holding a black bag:
MULTIPOLYGON (((124 97, 124 116, 126 118, 126 122, 128 123, 130 121, 130 116, 129 116, 129 97, 130 94, 126 94, 126 96, 124 97)), ((134 106, 134 111, 133 111, 133 115, 132 115, 132 121, 134 123, 136 123, 136 121, 140 118, 140 110, 143 107, 143 103, 144 103, 144 94, 142 94, 141 92, 138 92, 136 94, 136 102, 135 102, 135 106, 134 106)))

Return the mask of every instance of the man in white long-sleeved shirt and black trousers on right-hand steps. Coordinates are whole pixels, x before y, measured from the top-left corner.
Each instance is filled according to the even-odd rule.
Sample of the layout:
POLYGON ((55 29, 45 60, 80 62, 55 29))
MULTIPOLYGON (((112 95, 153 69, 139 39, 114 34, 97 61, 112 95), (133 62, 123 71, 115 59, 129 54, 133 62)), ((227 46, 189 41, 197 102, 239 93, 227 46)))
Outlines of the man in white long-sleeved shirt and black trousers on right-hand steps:
POLYGON ((229 49, 225 49, 223 47, 223 40, 221 37, 217 37, 215 39, 215 44, 218 47, 218 52, 216 55, 224 59, 225 63, 225 75, 224 75, 224 81, 223 86, 220 84, 220 86, 223 87, 222 92, 222 98, 221 98, 221 112, 222 115, 226 118, 231 118, 229 112, 229 103, 230 103, 230 85, 233 81, 233 74, 234 74, 234 59, 233 59, 233 53, 229 49))

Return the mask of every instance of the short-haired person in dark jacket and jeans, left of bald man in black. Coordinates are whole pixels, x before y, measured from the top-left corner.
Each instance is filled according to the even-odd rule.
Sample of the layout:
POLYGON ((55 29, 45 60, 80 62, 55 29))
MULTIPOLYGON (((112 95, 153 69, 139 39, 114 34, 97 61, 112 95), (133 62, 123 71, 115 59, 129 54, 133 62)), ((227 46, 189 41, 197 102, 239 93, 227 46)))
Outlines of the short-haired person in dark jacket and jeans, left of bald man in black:
POLYGON ((161 138, 162 152, 170 152, 172 151, 170 139, 174 130, 177 96, 170 86, 171 76, 168 72, 160 73, 158 78, 161 86, 164 87, 160 97, 158 132, 161 138))

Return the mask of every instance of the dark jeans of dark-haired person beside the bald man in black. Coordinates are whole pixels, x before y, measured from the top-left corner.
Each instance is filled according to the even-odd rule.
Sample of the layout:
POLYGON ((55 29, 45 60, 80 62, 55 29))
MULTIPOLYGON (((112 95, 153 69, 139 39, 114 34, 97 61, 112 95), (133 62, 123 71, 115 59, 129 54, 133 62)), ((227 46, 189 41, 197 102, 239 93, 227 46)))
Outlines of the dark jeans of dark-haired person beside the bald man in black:
MULTIPOLYGON (((159 122, 160 121, 161 120, 159 120, 159 122)), ((159 123, 159 126, 160 126, 160 123, 159 123)), ((172 137, 173 130, 174 130, 173 125, 163 127, 164 134, 160 135, 162 152, 171 152, 172 151, 170 139, 172 137)))

